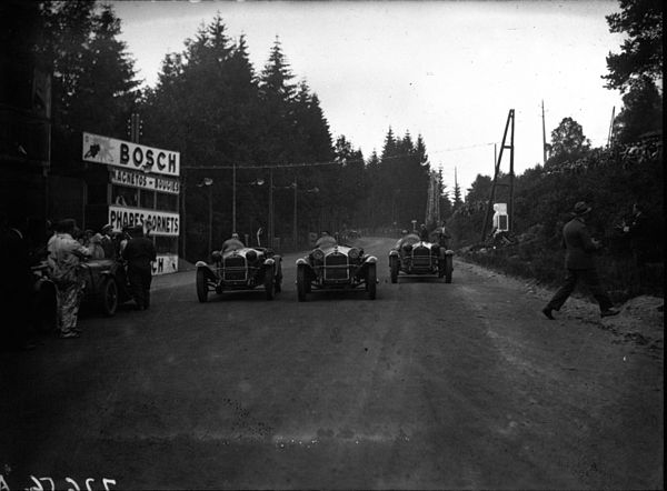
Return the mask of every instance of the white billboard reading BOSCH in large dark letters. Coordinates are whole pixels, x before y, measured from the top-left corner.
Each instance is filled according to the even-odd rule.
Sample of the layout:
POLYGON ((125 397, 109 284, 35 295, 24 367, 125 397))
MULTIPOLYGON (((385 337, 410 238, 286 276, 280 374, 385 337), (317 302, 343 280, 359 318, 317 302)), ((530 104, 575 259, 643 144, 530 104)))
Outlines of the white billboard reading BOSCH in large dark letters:
POLYGON ((162 176, 180 176, 180 153, 83 133, 81 160, 162 176))

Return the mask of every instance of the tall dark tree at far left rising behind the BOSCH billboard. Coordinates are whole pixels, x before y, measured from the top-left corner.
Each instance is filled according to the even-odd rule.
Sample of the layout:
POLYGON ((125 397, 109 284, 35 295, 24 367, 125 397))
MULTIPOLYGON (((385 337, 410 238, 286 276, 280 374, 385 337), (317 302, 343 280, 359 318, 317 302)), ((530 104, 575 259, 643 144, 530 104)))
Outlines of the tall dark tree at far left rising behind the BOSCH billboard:
POLYGON ((133 60, 118 39, 110 7, 88 1, 42 4, 39 64, 52 73, 52 160, 72 167, 81 131, 125 137, 126 116, 138 99, 133 60))

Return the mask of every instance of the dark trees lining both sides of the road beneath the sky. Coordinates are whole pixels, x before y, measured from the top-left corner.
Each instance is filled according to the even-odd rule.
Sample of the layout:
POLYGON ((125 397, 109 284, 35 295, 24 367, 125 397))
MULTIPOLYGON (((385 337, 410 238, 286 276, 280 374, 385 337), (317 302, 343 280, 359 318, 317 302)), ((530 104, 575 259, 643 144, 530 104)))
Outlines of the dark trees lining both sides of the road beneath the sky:
MULTIPOLYGON (((368 157, 346 136, 332 137, 316 91, 291 71, 278 38, 266 64, 256 70, 246 38, 232 39, 218 14, 185 40, 180 52, 165 56, 155 87, 141 88, 135 61, 118 39, 121 21, 112 7, 83 0, 24 2, 17 14, 11 10, 16 3, 2 7, 14 26, 13 34, 11 29, 4 33, 7 46, 20 53, 20 63, 51 74, 52 168, 72 176, 99 173, 81 166, 81 132, 128 139, 130 114, 139 113, 141 143, 181 153, 181 243, 189 259, 209 252, 202 240, 208 193, 197 186, 205 178, 212 180, 216 244, 232 232, 235 208, 238 232, 266 231, 270 194, 281 239, 295 236, 295 201, 300 241, 309 231, 394 230, 424 220, 431 167, 421 136, 398 136, 388 128, 379 153, 368 157)), ((661 12, 659 1, 621 0, 620 12, 607 18, 613 32, 628 36, 621 51, 607 57, 608 74, 603 76, 624 101, 610 149, 649 131, 661 134, 661 12)), ((646 201, 661 217, 660 164, 627 166, 618 152, 591 149, 571 118, 551 132, 547 150, 545 166, 516 177, 517 233, 539 226, 547 236, 556 234, 563 213, 579 199, 605 209, 609 223, 633 201, 646 201), (578 173, 568 171, 583 160, 589 162, 586 172, 581 166, 574 166, 578 173), (591 163, 597 161, 606 163, 591 163)), ((661 162, 661 153, 657 159, 661 162)), ((500 176, 500 182, 507 179, 500 176)), ((448 188, 438 176, 438 186, 441 217, 455 242, 478 241, 491 178, 478 176, 465 200, 457 183, 448 188)), ((507 199, 504 189, 497 201, 507 199)))

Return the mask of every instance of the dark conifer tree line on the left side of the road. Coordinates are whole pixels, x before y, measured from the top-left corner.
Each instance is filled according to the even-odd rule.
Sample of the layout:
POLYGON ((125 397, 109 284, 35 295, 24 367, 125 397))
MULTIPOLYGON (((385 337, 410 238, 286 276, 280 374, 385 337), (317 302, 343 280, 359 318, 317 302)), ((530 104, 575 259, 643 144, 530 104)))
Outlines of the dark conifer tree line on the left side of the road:
POLYGON ((233 231, 235 209, 237 232, 267 231, 270 194, 283 243, 295 237, 295 201, 299 242, 309 231, 424 220, 424 139, 389 128, 381 153, 365 159, 346 136, 334 138, 317 93, 291 71, 278 38, 258 71, 245 36, 232 39, 217 14, 183 40, 182 51, 165 56, 155 87, 141 88, 112 7, 43 1, 22 14, 30 26, 26 51, 52 77, 52 169, 99 172, 81 168, 81 132, 128 139, 130 114, 140 114, 140 143, 181 154, 181 242, 190 259, 208 253, 201 238, 209 206, 217 244, 233 231), (211 203, 197 186, 205 178, 212 181, 211 203))

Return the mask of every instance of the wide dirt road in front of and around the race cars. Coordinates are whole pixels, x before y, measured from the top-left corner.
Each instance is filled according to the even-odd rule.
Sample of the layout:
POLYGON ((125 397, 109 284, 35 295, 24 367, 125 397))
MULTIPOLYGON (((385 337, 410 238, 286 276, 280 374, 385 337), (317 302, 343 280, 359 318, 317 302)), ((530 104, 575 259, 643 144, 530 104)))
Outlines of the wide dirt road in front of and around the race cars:
MULTIPOLYGON (((78 340, 2 354, 9 489, 658 489, 663 318, 601 321, 531 284, 456 262, 454 282, 388 280, 297 302, 198 303, 195 273, 150 311, 87 317, 78 340), (48 481, 42 482, 50 489, 48 481)), ((179 279, 180 278, 180 279, 179 279)), ((629 308, 629 309, 628 309, 629 308)))

